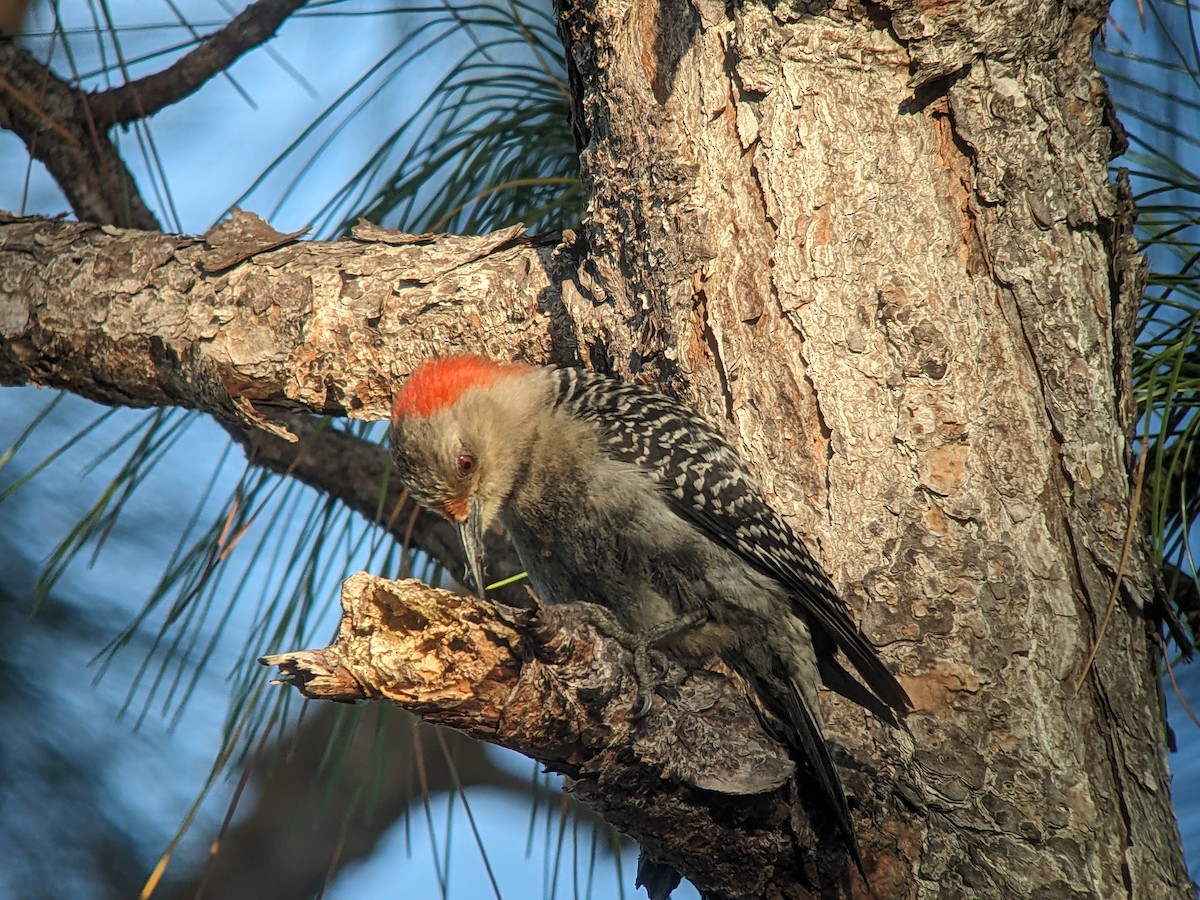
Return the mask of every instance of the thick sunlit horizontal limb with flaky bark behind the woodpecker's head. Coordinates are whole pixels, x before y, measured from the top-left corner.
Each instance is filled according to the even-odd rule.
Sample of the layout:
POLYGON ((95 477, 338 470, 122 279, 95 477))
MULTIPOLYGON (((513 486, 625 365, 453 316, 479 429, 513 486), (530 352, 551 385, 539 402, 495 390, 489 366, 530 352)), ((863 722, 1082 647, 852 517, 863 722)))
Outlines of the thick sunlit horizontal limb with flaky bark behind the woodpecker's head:
POLYGON ((0 384, 287 436, 284 410, 386 418, 403 374, 449 347, 545 361, 557 334, 558 358, 571 352, 559 284, 574 262, 557 239, 362 226, 280 247, 242 218, 260 238, 246 222, 202 241, 0 215, 0 384))

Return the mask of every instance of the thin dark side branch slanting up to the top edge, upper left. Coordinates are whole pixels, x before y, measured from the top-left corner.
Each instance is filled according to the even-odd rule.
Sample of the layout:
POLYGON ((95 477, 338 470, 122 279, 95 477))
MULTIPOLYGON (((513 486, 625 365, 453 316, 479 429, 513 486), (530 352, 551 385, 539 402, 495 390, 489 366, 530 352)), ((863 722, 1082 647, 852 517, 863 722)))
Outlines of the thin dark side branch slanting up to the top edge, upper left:
POLYGON ((98 128, 154 115, 198 91, 239 56, 266 43, 306 0, 258 0, 161 72, 89 97, 98 128))

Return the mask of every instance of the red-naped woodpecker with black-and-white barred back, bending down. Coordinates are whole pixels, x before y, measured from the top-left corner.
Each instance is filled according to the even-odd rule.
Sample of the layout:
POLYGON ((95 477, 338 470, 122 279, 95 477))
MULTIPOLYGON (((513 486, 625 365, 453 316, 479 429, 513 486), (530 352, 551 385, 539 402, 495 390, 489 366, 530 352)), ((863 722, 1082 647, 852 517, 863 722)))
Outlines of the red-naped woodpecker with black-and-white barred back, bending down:
POLYGON ((617 378, 455 355, 397 392, 392 454, 413 498, 457 526, 478 590, 498 521, 539 598, 607 610, 635 661, 661 644, 742 674, 862 871, 817 684, 893 725, 911 701, 716 428, 617 378))

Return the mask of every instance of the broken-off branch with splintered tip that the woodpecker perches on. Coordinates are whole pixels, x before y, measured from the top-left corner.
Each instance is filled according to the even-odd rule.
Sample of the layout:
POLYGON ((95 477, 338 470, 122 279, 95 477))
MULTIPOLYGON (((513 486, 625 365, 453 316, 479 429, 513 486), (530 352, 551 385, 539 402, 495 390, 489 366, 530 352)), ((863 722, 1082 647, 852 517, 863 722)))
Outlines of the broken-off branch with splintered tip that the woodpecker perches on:
MULTIPOLYGON (((263 664, 306 697, 391 700, 569 775, 576 797, 703 892, 804 896, 797 884, 847 889, 857 878, 820 810, 815 823, 798 812, 812 804, 793 802, 793 763, 739 680, 672 664, 668 698, 635 721, 629 654, 586 607, 520 611, 366 574, 346 582, 342 607, 332 646, 263 664)), ((852 794, 875 794, 866 809, 896 805, 883 787, 892 778, 860 763, 844 778, 852 794)), ((895 859, 902 841, 863 836, 872 884, 886 889, 907 865, 895 859)))

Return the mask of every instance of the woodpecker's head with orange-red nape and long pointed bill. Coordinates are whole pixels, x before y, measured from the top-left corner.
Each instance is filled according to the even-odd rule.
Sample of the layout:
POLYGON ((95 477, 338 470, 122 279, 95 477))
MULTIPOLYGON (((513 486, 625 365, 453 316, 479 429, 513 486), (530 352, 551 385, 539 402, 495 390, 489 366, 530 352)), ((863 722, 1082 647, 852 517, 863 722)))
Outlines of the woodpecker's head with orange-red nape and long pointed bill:
POLYGON ((396 470, 413 499, 458 528, 480 595, 484 533, 509 496, 518 462, 514 386, 534 371, 474 355, 426 360, 391 408, 396 470))

